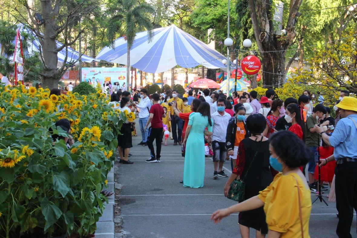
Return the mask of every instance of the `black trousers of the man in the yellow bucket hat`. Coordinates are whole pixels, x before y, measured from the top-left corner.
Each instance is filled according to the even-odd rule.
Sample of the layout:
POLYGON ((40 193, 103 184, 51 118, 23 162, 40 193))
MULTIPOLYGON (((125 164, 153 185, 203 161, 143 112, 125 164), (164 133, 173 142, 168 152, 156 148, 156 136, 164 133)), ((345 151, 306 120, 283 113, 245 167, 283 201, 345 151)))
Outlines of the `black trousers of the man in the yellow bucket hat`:
POLYGON ((338 223, 336 234, 352 238, 353 209, 357 211, 357 162, 344 162, 335 168, 336 208, 338 223))

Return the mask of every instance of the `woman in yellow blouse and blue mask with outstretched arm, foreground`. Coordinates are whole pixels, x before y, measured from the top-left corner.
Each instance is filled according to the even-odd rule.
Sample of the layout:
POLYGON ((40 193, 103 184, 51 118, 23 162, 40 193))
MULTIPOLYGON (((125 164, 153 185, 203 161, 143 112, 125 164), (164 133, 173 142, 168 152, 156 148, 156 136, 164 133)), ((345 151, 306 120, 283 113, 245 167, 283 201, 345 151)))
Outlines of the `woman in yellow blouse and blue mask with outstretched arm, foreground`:
POLYGON ((299 166, 308 162, 311 151, 290 131, 274 133, 269 140, 270 165, 280 173, 257 196, 217 210, 212 214, 211 220, 218 223, 231 213, 263 206, 268 238, 309 238, 311 193, 299 166))

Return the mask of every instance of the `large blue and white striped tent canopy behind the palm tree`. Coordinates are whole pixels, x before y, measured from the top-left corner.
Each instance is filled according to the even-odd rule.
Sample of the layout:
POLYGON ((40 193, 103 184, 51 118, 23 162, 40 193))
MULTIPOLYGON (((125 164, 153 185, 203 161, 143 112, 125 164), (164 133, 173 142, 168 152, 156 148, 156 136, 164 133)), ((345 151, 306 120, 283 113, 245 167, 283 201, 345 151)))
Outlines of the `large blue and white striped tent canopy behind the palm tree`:
MULTIPOLYGON (((115 40, 115 47, 104 47, 96 60, 127 64, 127 42, 124 37, 115 40)), ((149 73, 160 73, 176 65, 192 68, 203 65, 210 69, 225 68, 220 52, 197 40, 175 25, 154 30, 154 37, 148 42, 147 31, 136 34, 130 49, 130 65, 149 73)))

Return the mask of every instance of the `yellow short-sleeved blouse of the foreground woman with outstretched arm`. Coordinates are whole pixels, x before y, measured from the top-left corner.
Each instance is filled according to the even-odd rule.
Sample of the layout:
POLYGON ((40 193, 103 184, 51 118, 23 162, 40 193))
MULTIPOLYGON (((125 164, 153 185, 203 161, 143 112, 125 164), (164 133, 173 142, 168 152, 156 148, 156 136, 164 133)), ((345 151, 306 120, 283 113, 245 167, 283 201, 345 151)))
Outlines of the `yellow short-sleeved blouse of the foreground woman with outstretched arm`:
POLYGON ((258 198, 264 203, 264 212, 268 228, 281 232, 281 238, 300 238, 301 223, 299 212, 300 193, 304 237, 310 238, 309 220, 311 213, 311 192, 296 173, 283 175, 278 173, 273 182, 258 198), (298 189, 297 182, 298 181, 298 189))

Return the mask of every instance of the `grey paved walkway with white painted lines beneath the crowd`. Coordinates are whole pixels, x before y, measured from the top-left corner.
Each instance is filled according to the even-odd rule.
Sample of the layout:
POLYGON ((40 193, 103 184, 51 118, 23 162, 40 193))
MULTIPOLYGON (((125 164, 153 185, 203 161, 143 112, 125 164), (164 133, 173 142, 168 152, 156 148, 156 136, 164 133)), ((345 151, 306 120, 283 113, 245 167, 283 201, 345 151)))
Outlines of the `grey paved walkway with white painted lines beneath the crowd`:
MULTIPOLYGON (((237 214, 223 219, 220 224, 210 221, 213 211, 236 203, 223 196, 227 178, 212 178, 211 157, 206 157, 204 187, 182 187, 179 181, 182 180, 184 158, 180 146, 173 146, 173 140, 169 140, 169 146, 162 146, 160 163, 145 163, 149 149, 137 146, 141 141, 137 129, 138 136, 132 137, 134 147, 130 158, 134 164, 119 166, 119 180, 123 184, 120 197, 122 234, 128 238, 240 237, 237 214)), ((225 172, 230 174, 230 163, 225 163, 225 172)), ((289 198, 286 199, 288 202, 289 198)), ((315 194, 311 199, 316 199, 315 194)), ((326 195, 324 199, 328 207, 320 201, 312 205, 310 236, 314 238, 337 237, 336 204, 328 202, 326 195)), ((351 231, 357 237, 356 217, 351 231)), ((255 237, 252 229, 251 237, 255 237)))

